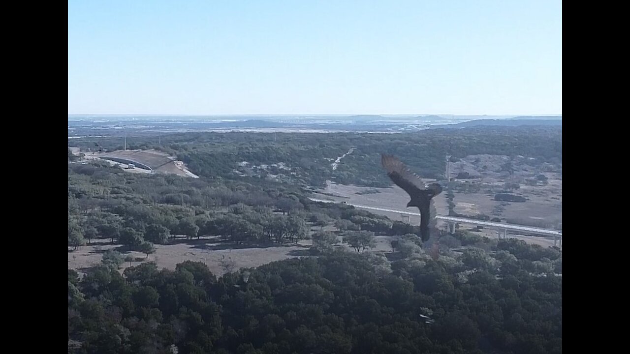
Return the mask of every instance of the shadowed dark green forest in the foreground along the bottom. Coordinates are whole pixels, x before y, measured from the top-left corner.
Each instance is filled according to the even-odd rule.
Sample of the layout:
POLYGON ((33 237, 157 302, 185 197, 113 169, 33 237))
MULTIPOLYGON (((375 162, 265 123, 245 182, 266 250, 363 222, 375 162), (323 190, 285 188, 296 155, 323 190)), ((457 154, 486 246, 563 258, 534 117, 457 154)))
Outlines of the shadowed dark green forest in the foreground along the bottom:
POLYGON ((333 251, 218 279, 191 261, 68 270, 68 338, 81 343, 69 351, 561 353, 559 251, 473 244, 400 247, 398 260, 333 251))

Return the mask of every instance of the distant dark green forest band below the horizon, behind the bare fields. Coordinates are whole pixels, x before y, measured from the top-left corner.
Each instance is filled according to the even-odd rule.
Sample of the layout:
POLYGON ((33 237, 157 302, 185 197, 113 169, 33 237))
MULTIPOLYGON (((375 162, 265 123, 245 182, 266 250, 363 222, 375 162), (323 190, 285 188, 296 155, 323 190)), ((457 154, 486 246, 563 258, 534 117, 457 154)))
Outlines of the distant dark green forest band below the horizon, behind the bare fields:
MULTIPOLYGON (((71 141, 71 146, 123 148, 122 138, 71 141)), ((234 179, 241 174, 273 178, 304 187, 326 180, 359 186, 390 186, 381 154, 395 154, 425 178, 443 178, 445 156, 473 154, 534 157, 531 163, 562 163, 562 127, 479 127, 430 129, 405 134, 297 134, 190 132, 161 137, 128 137, 129 149, 160 149, 199 175, 234 179), (354 147, 337 169, 331 164, 354 147), (239 166, 242 162, 249 167, 239 166), (281 164, 280 164, 281 163, 281 164)))

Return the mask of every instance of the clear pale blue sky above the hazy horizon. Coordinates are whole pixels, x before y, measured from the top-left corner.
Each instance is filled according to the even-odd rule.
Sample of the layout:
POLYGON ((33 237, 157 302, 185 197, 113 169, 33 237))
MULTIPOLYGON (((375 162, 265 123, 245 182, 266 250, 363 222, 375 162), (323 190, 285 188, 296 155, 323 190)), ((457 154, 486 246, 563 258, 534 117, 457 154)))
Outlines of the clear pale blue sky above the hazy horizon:
POLYGON ((68 113, 562 113, 556 0, 68 1, 68 113))

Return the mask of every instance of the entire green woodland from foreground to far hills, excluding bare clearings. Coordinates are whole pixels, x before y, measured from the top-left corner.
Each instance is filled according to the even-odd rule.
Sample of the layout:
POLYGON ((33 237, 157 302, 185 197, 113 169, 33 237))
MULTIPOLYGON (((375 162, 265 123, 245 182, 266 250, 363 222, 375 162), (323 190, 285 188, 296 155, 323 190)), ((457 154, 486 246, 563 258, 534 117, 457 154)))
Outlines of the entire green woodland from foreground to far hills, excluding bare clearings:
MULTIPOLYGON (((119 140, 98 144, 119 149, 119 140)), ((561 130, 188 133, 163 136, 161 147, 153 140, 127 144, 169 152, 200 178, 78 163, 69 152, 69 252, 95 239, 118 247, 99 265, 68 269, 69 353, 562 352, 559 249, 462 230, 423 243, 418 226, 307 198, 326 180, 391 185, 381 152, 427 177, 440 177, 446 152, 561 164, 561 130), (185 260, 175 270, 150 261, 120 270, 122 251, 148 255, 154 244, 202 236, 312 246, 301 258, 224 275, 185 260), (391 239, 393 251, 370 251, 375 236, 391 239)))

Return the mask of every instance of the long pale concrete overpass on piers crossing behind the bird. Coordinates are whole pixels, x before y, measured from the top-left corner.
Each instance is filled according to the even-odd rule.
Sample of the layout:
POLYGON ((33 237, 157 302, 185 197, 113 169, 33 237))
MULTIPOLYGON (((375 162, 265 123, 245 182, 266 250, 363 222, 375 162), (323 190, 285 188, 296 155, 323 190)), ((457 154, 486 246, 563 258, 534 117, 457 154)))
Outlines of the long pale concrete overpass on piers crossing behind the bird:
MULTIPOLYGON (((334 200, 323 200, 323 199, 317 199, 317 198, 309 198, 309 199, 312 200, 313 202, 336 203, 334 200)), ((351 205, 352 207, 355 207, 355 208, 362 208, 362 209, 368 209, 368 210, 379 210, 379 211, 382 211, 382 212, 398 213, 398 214, 401 215, 401 217, 403 217, 403 220, 404 220, 404 216, 405 215, 420 216, 420 213, 407 212, 407 211, 403 211, 403 210, 393 210, 393 209, 386 209, 386 208, 368 207, 367 205, 357 205, 357 204, 350 204, 350 203, 346 203, 346 202, 342 202, 342 203, 345 203, 346 205, 351 205)), ((477 220, 477 219, 466 219, 464 217, 451 217, 451 216, 440 216, 440 215, 437 215, 435 217, 435 219, 444 220, 447 223, 447 228, 448 228, 448 231, 450 233, 455 232, 455 226, 457 224, 473 224, 473 225, 478 225, 478 226, 495 228, 498 231, 498 236, 499 236, 500 239, 505 239, 508 236, 508 231, 520 231, 520 232, 525 232, 527 234, 536 234, 536 235, 542 235, 542 236, 553 236, 554 237, 554 240, 553 240, 554 246, 557 246, 559 244, 559 247, 562 248, 562 231, 556 231, 556 230, 550 230, 550 229, 542 229, 540 227, 515 225, 515 224, 502 224, 500 222, 490 222, 490 221, 477 220)))

